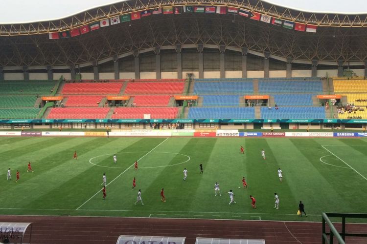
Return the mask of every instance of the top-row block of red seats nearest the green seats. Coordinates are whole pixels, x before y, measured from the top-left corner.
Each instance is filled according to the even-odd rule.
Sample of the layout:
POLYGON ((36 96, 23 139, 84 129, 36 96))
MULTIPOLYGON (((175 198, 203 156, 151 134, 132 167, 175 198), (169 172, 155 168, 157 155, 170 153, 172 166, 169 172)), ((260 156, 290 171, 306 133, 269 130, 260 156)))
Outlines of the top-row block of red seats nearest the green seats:
POLYGON ((114 83, 66 83, 62 94, 119 94, 123 82, 114 83))

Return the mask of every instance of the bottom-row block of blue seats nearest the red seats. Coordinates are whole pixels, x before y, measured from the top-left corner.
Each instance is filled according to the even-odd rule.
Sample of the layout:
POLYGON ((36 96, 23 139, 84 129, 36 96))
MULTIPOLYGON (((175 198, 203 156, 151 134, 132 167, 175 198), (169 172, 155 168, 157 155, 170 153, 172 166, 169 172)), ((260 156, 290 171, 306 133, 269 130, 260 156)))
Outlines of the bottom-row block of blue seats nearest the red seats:
POLYGON ((252 107, 192 107, 188 119, 254 119, 252 107))

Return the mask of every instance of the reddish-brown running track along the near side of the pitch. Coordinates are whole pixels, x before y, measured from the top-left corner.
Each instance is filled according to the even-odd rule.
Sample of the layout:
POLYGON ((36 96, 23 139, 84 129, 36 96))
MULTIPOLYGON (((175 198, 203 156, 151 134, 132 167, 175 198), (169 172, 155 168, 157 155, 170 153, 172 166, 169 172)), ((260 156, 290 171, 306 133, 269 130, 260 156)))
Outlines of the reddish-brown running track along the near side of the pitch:
MULTIPOLYGON (((266 244, 321 243, 321 223, 306 222, 15 215, 2 215, 0 222, 33 223, 31 244, 115 244, 119 235, 181 236, 186 237, 185 244, 195 244, 196 237, 265 239, 266 244)), ((348 224, 346 230, 367 233, 367 224, 348 224)), ((366 244, 367 239, 354 237, 346 243, 366 244)))

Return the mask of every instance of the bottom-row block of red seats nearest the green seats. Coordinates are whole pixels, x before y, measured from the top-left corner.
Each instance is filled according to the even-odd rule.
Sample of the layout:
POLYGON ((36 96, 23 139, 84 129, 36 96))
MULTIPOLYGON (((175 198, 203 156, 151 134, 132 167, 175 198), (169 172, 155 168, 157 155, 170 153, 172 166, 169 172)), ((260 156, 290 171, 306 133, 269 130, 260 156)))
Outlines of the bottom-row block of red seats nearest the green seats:
POLYGON ((47 119, 104 119, 110 108, 51 108, 47 119))

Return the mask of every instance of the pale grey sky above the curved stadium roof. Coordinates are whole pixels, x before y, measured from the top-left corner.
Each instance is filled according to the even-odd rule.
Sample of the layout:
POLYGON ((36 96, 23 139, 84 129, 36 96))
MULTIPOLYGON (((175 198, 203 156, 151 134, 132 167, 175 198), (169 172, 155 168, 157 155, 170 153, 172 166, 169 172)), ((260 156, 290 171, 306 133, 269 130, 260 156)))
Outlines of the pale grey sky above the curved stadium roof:
MULTIPOLYGON (((0 23, 54 20, 121 0, 0 0, 0 23)), ((367 0, 266 0, 310 12, 367 13, 367 0)))

